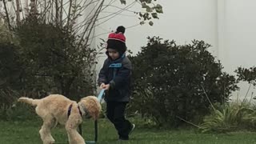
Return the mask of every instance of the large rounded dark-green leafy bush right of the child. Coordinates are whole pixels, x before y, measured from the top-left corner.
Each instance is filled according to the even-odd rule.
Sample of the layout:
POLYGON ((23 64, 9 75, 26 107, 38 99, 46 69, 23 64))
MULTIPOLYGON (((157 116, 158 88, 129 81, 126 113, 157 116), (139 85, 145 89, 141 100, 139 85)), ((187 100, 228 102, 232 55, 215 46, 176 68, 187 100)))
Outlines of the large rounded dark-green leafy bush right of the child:
POLYGON ((209 113, 210 102, 226 102, 238 86, 234 76, 222 72, 209 47, 203 41, 177 46, 174 41, 149 38, 141 52, 130 56, 131 108, 158 125, 179 126, 178 118, 193 121, 209 113))

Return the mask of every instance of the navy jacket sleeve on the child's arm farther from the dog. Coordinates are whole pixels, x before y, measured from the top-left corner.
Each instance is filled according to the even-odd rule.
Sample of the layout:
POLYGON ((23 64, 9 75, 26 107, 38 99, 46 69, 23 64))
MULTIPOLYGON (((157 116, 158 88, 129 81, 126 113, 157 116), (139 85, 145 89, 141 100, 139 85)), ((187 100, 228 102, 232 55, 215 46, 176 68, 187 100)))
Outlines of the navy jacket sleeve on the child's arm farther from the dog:
POLYGON ((118 74, 113 80, 110 81, 111 89, 120 89, 123 85, 126 85, 130 82, 131 75, 131 63, 126 62, 118 71, 118 74))

